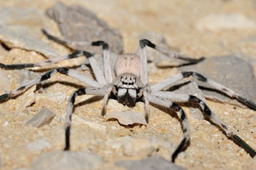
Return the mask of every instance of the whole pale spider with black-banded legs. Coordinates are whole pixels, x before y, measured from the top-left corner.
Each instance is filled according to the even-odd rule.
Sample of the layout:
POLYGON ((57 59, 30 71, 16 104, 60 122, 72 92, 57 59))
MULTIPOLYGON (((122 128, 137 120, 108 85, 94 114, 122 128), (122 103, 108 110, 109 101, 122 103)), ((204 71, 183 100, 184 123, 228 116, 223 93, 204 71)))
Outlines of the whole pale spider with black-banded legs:
POLYGON ((208 83, 212 87, 224 92, 231 98, 236 98, 238 101, 244 103, 245 105, 251 107, 252 109, 256 110, 256 104, 248 101, 243 96, 238 94, 237 92, 218 84, 210 79, 205 78, 204 76, 198 74, 197 72, 193 71, 185 71, 181 72, 178 75, 169 77, 152 87, 148 87, 147 82, 147 59, 146 59, 146 46, 152 47, 155 50, 159 51, 170 57, 180 58, 183 60, 187 60, 190 62, 197 62, 195 59, 189 59, 180 55, 177 55, 172 52, 165 51, 163 48, 155 45, 151 41, 146 39, 140 40, 140 56, 136 54, 123 54, 117 58, 115 62, 115 74, 112 75, 112 69, 110 64, 110 48, 108 43, 104 41, 94 41, 94 42, 69 42, 66 40, 59 39, 57 37, 49 35, 46 31, 44 34, 49 38, 56 42, 59 42, 64 45, 68 46, 89 46, 89 45, 96 45, 101 46, 103 48, 103 63, 104 63, 104 74, 101 71, 98 63, 96 62, 94 55, 86 52, 86 51, 77 51, 70 55, 64 57, 57 57, 53 59, 48 59, 38 63, 29 63, 29 64, 12 64, 12 65, 5 65, 0 63, 1 68, 5 69, 22 69, 26 67, 35 67, 35 66, 44 66, 51 63, 56 63, 62 60, 77 58, 80 56, 86 56, 90 62, 92 70, 94 72, 95 80, 90 79, 89 77, 82 75, 72 69, 61 67, 52 69, 46 74, 42 75, 39 78, 29 81, 25 83, 9 93, 0 95, 0 101, 8 99, 12 96, 20 94, 24 92, 31 86, 39 84, 47 79, 50 79, 54 74, 59 72, 60 74, 70 76, 84 84, 88 87, 80 88, 73 92, 70 96, 68 101, 68 109, 66 114, 66 147, 65 150, 70 149, 70 128, 71 128, 71 116, 72 111, 75 103, 75 99, 77 95, 84 95, 84 94, 93 94, 93 95, 100 95, 104 96, 103 98, 103 109, 102 115, 106 112, 106 104, 108 99, 110 98, 111 94, 113 94, 118 102, 124 105, 134 105, 138 100, 143 100, 145 103, 145 119, 148 122, 149 118, 149 104, 157 104, 164 107, 168 107, 173 109, 176 112, 179 112, 180 119, 182 121, 182 128, 184 133, 184 138, 180 142, 178 148, 172 155, 172 161, 175 161, 177 155, 182 151, 186 143, 189 141, 190 131, 187 122, 187 116, 184 110, 178 106, 175 102, 192 102, 198 104, 198 106, 202 109, 203 113, 211 120, 211 122, 218 125, 225 134, 232 139, 234 142, 239 144, 242 148, 244 148, 252 157, 255 156, 255 151, 240 137, 234 134, 231 129, 222 122, 220 118, 218 118, 209 107, 206 105, 205 102, 198 99, 196 96, 188 95, 188 94, 181 94, 177 92, 170 92, 170 91, 163 91, 164 88, 169 87, 170 85, 190 76, 195 77, 199 81, 208 83), (115 77, 116 76, 116 77, 115 77))

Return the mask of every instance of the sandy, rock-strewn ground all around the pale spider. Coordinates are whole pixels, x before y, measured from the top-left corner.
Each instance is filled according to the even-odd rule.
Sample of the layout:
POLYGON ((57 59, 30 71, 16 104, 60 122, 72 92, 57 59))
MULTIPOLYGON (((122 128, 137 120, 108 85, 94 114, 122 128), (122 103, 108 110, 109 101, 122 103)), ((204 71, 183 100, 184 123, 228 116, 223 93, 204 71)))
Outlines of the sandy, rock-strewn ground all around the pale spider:
MULTIPOLYGON (((49 40, 41 32, 44 28, 58 37, 80 38, 79 35, 71 35, 71 28, 60 23, 61 17, 60 21, 56 16, 51 19, 52 13, 46 12, 55 2, 0 1, 0 63, 33 63, 72 52, 69 47, 49 40)), ((90 10, 95 29, 79 22, 79 19, 86 19, 83 14, 72 13, 67 18, 71 22, 72 16, 78 16, 77 25, 74 24, 77 32, 83 31, 79 30, 81 25, 81 28, 91 29, 84 31, 84 35, 92 33, 93 37, 106 38, 113 46, 112 52, 136 53, 139 39, 144 37, 182 55, 206 58, 195 65, 178 67, 184 63, 147 48, 151 60, 148 63, 151 84, 182 70, 193 69, 242 93, 255 103, 255 1, 61 2, 72 8, 78 5, 90 10), (94 14, 99 21, 95 21, 94 14), (112 36, 115 37, 111 39, 112 36)), ((99 49, 94 50, 98 52, 99 49)), ((100 61, 100 56, 98 58, 100 61)), ((93 76, 88 65, 81 66, 81 63, 84 63, 83 58, 43 68, 0 69, 0 94, 54 67, 65 66, 93 76)), ((187 80, 192 82, 174 90, 201 98, 204 94, 206 99, 203 100, 212 111, 256 149, 256 112, 212 91, 201 92, 194 83, 195 79, 187 80)), ((68 99, 75 89, 82 86, 70 77, 56 74, 40 86, 31 87, 22 95, 0 103, 0 169, 255 168, 255 157, 252 159, 217 126, 207 122, 200 110, 183 105, 188 115, 191 138, 189 146, 174 165, 170 163, 171 156, 183 133, 171 110, 153 105, 150 107, 150 123, 126 126, 116 119, 102 117, 102 98, 92 95, 77 97, 72 117, 71 152, 62 152, 68 99)), ((139 112, 144 113, 144 104, 138 102, 134 108, 129 108, 115 100, 108 103, 108 113, 125 110, 140 116, 139 112)))

